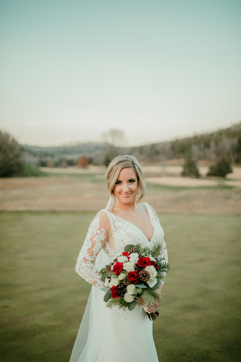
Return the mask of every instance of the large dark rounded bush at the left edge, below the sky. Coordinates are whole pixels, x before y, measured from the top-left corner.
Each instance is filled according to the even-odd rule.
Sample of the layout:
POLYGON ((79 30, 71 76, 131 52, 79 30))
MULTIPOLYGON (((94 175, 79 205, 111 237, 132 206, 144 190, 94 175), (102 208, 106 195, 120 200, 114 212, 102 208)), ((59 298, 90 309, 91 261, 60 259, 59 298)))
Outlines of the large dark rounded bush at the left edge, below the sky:
POLYGON ((18 176, 21 157, 21 145, 8 133, 0 131, 0 177, 18 176))

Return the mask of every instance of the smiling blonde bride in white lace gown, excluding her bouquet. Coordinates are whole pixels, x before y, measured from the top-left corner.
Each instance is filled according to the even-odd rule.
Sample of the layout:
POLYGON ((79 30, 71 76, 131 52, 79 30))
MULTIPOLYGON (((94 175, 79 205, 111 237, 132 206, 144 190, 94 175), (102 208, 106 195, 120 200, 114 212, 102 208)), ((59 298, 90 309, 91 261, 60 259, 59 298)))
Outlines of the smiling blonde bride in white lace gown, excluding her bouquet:
MULTIPOLYGON (((162 243, 161 254, 168 261, 164 232, 155 210, 146 202, 140 203, 146 186, 141 165, 134 156, 115 157, 108 166, 106 180, 110 200, 92 220, 76 264, 77 273, 92 288, 70 362, 158 362, 153 322, 146 318, 143 307, 155 312, 160 301, 143 306, 142 299, 136 299, 140 308, 136 306, 133 311, 107 308, 98 270, 112 262, 128 244, 150 247, 162 243)), ((162 284, 158 292, 161 290, 162 284)))

